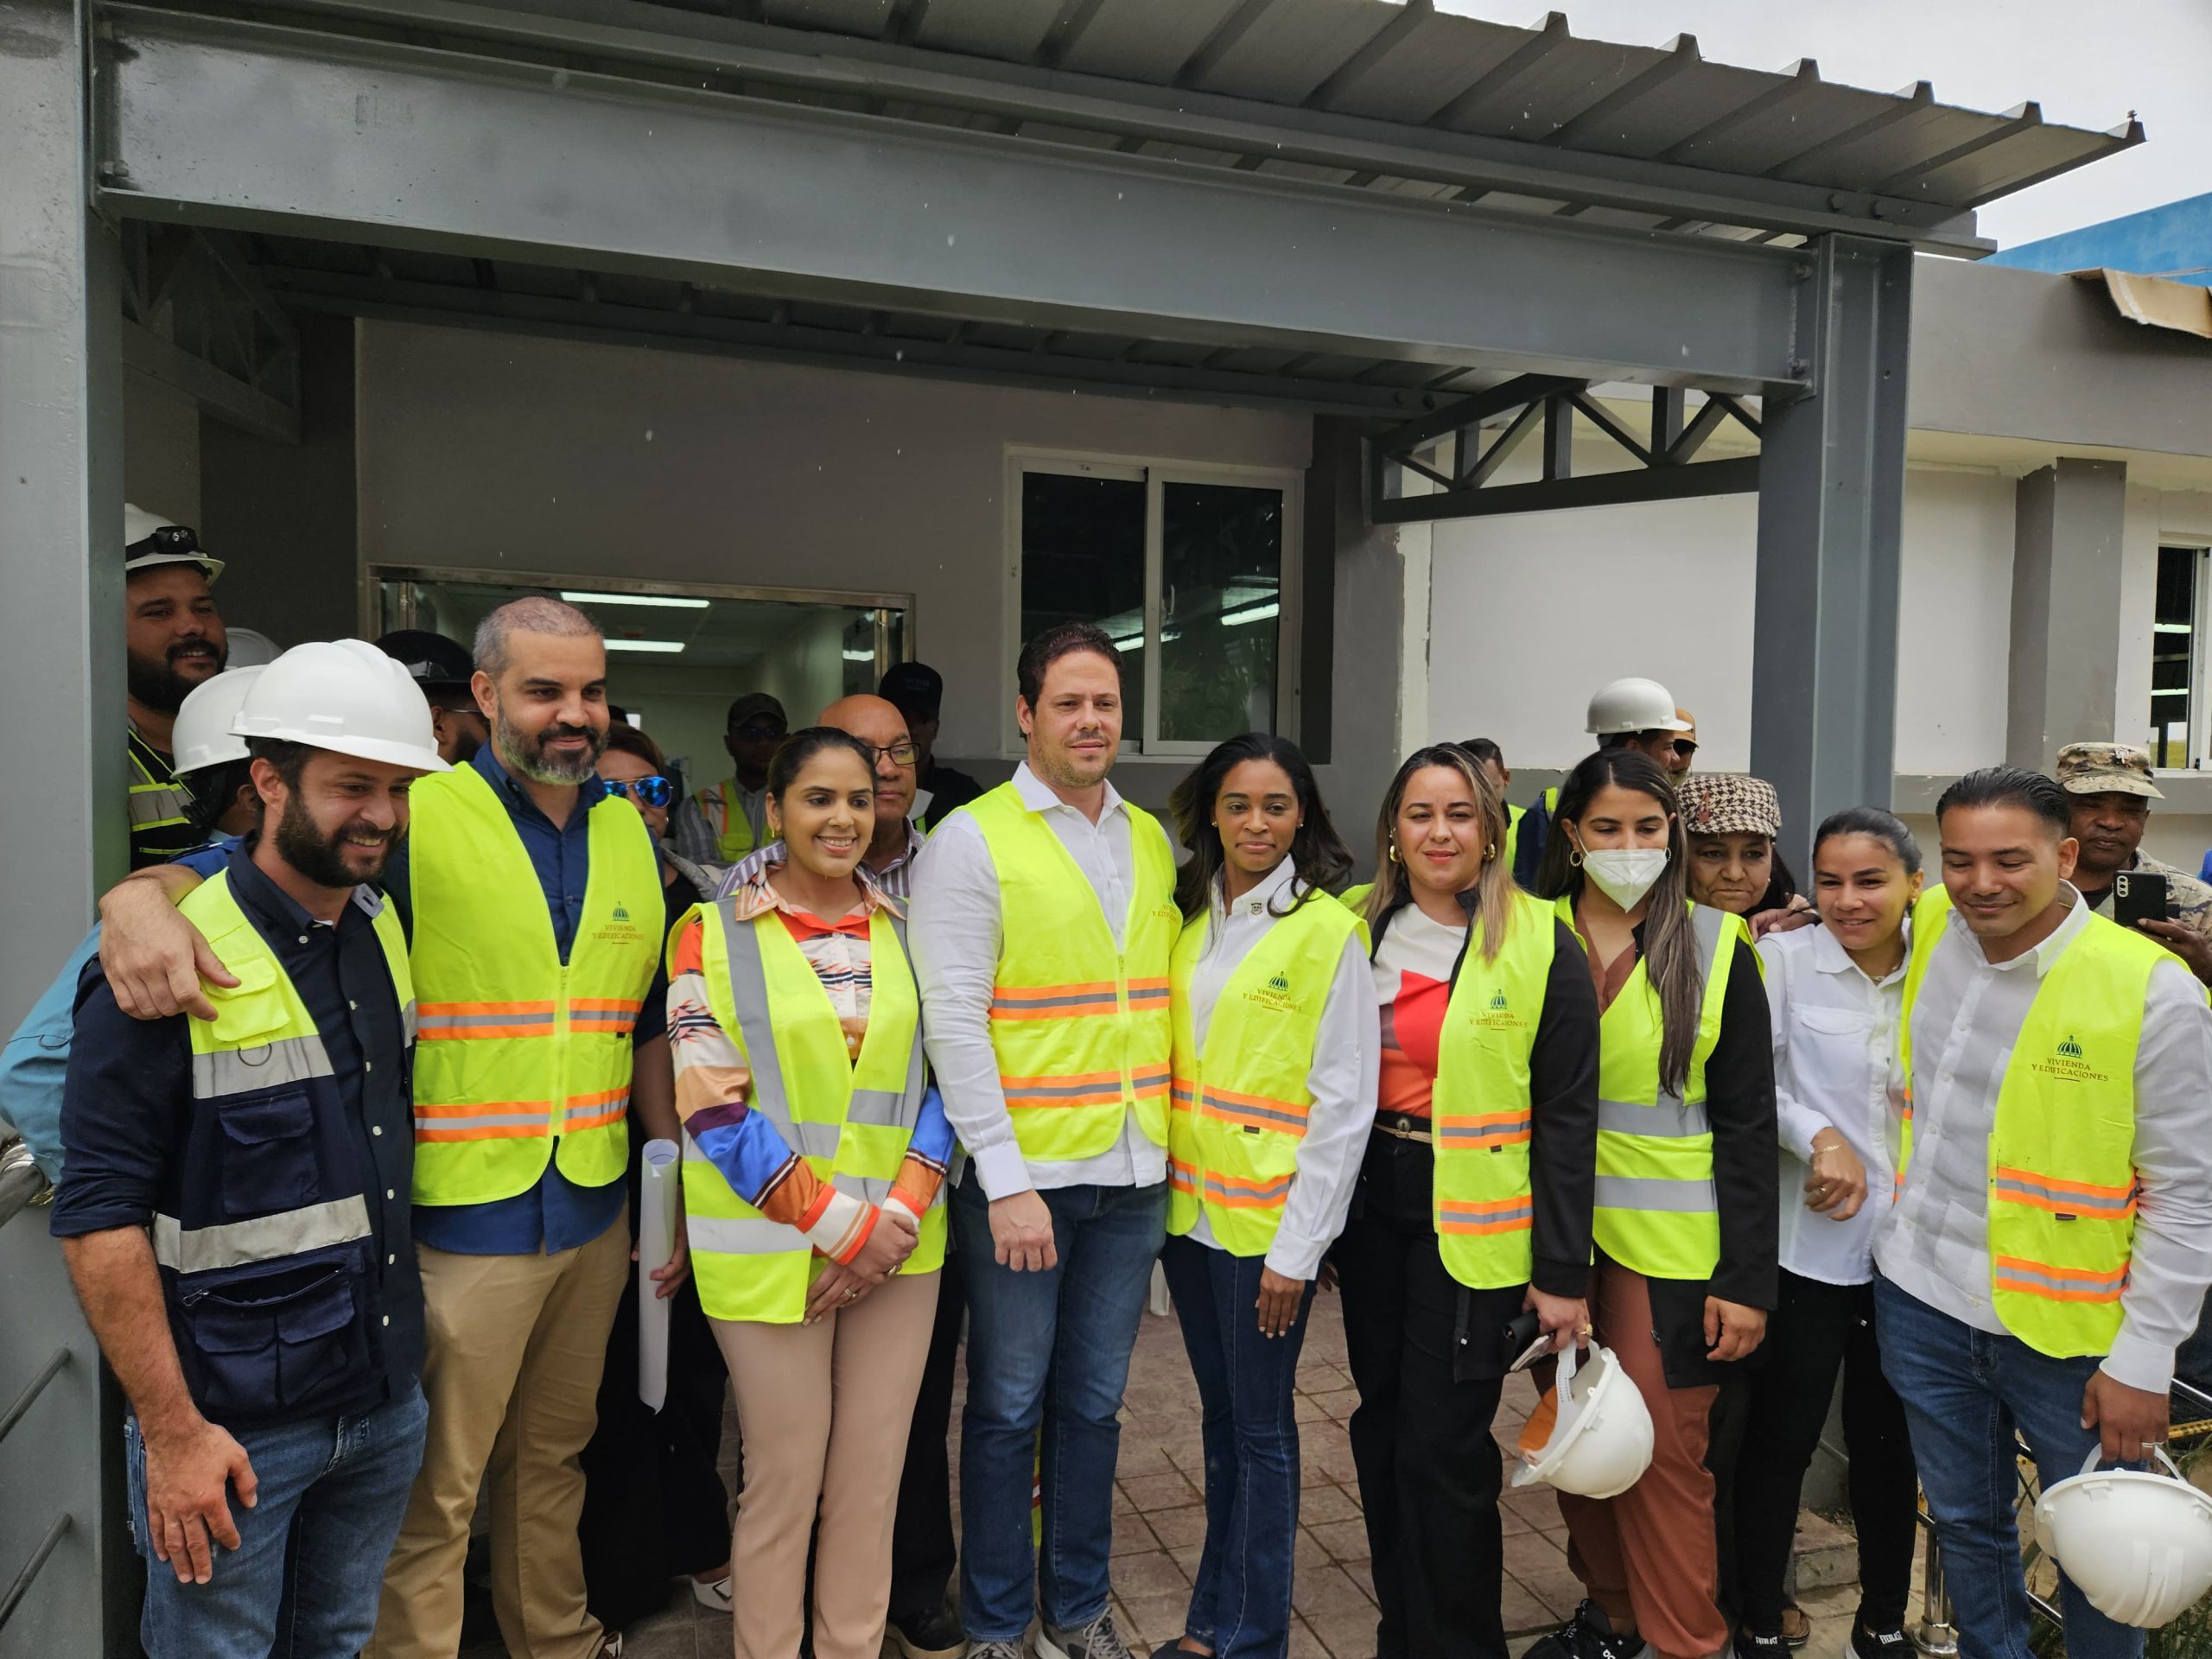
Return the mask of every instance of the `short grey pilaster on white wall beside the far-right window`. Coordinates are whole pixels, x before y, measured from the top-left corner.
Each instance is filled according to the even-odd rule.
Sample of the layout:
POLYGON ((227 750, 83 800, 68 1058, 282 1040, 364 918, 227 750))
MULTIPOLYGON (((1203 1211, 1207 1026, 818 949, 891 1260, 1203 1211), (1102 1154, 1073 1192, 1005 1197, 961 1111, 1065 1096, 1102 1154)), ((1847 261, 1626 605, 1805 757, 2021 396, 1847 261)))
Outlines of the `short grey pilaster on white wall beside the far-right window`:
POLYGON ((2119 708, 2117 571, 2128 462, 2062 456, 2055 467, 2022 478, 2013 502, 2013 666, 2004 759, 2042 772, 2064 743, 2124 737, 2112 721, 2119 708))

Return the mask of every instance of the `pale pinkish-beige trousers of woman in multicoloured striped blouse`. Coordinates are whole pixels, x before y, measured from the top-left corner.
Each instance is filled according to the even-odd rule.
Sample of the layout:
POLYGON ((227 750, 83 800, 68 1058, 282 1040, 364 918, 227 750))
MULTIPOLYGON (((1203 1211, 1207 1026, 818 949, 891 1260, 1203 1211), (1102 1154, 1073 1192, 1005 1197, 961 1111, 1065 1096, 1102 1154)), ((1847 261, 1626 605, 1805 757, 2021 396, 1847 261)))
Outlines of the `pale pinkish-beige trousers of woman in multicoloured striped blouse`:
POLYGON ((745 1438, 737 1659, 796 1659, 816 1528, 816 1659, 883 1648, 898 1475, 936 1314, 938 1274, 900 1274, 814 1325, 714 1321, 745 1438))

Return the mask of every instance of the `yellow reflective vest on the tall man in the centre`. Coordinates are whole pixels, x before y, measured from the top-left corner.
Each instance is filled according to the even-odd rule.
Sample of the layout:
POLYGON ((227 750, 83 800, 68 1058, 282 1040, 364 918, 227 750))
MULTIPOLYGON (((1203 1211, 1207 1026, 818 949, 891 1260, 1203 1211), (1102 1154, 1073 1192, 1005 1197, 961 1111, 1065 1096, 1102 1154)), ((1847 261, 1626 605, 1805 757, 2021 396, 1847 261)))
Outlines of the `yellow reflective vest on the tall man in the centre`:
POLYGON ((1144 1135, 1166 1146, 1168 975, 1183 918, 1159 823, 1124 803, 1137 883, 1115 947, 1091 878, 1011 783, 960 812, 975 818, 998 872, 991 1048, 1022 1157, 1097 1157, 1119 1139, 1130 1110, 1144 1135))

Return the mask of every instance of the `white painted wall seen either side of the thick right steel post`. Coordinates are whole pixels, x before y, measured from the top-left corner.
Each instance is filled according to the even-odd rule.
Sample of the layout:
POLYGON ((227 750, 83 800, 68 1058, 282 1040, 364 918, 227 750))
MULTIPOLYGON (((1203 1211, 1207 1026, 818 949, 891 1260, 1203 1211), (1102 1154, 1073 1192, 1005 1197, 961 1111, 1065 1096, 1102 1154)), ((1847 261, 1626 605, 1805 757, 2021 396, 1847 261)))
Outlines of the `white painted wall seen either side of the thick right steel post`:
MULTIPOLYGON (((1515 768, 1566 768, 1590 748, 1588 695, 1648 675, 1697 714, 1699 765, 1741 772, 1752 761, 1756 535, 1752 495, 1438 524, 1429 734, 1493 737, 1515 768)), ((1900 772, 1962 772, 2004 754, 2011 568, 2013 480, 1916 467, 1900 772)))

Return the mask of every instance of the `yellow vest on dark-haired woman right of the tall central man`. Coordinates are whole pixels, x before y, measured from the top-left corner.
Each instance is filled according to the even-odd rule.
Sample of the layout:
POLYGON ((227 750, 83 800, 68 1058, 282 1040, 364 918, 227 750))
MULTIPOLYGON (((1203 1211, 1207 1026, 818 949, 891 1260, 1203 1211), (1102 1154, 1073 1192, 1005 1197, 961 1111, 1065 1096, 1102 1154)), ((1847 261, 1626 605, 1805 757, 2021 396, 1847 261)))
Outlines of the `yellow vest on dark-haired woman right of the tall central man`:
POLYGON ((1276 916, 1221 987, 1199 1044, 1190 980, 1210 931, 1212 916, 1199 916, 1175 942, 1168 1232, 1190 1232, 1203 1210, 1214 1243, 1263 1256, 1298 1172, 1329 987, 1345 940, 1367 927, 1323 891, 1276 916))

